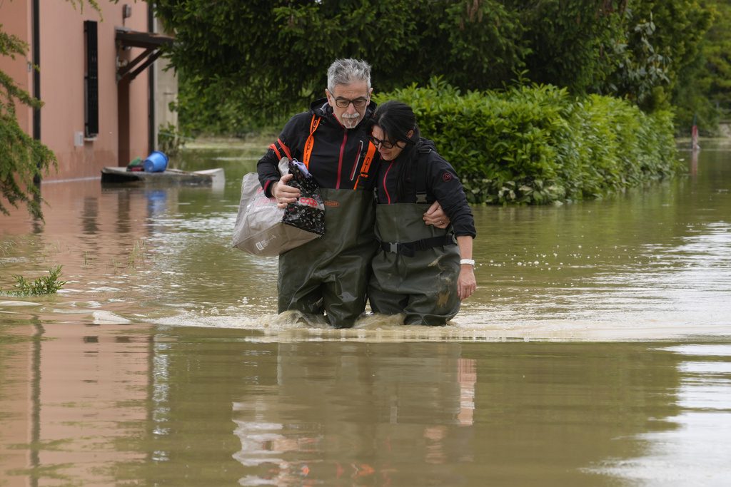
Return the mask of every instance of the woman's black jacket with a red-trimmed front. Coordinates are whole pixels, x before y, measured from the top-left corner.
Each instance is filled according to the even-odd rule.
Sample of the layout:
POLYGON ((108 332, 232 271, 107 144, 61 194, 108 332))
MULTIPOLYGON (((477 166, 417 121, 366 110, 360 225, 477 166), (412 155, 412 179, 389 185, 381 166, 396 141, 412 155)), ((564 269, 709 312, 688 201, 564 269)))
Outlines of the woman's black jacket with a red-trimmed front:
POLYGON ((417 192, 425 192, 427 203, 439 201, 442 205, 455 235, 477 235, 462 183, 431 140, 420 139, 415 146, 401 151, 394 161, 380 161, 377 174, 379 204, 416 203, 417 192))

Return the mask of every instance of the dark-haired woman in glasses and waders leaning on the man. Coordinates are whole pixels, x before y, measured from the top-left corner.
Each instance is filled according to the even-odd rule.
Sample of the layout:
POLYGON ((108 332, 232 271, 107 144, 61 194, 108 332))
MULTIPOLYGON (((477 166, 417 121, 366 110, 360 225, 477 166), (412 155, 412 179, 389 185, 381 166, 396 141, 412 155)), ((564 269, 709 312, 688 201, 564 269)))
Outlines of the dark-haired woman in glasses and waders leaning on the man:
POLYGON ((387 101, 370 120, 381 157, 376 237, 368 299, 374 312, 405 313, 404 323, 444 325, 474 293, 474 218, 455 170, 420 137, 414 112, 387 101), (445 230, 425 226, 425 207, 438 201, 450 218, 445 230), (456 237, 456 245, 455 245, 456 237))

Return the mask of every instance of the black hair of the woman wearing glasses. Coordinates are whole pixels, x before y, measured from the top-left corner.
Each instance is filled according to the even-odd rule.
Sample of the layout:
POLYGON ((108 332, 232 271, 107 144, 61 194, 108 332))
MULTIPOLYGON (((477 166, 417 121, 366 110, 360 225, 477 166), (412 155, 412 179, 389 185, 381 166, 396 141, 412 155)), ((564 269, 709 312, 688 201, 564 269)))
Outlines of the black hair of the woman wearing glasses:
POLYGON ((416 150, 414 146, 420 139, 419 127, 416 124, 416 115, 409 105, 402 101, 386 101, 379 104, 376 111, 369 121, 368 134, 373 131, 374 126, 379 126, 384 133, 384 137, 389 142, 395 144, 397 142, 406 142, 406 147, 401 150, 398 156, 399 164, 396 166, 398 175, 397 191, 398 200, 404 201, 404 186, 406 180, 411 179, 413 166, 416 162, 416 150), (412 137, 409 137, 409 131, 414 131, 412 137))

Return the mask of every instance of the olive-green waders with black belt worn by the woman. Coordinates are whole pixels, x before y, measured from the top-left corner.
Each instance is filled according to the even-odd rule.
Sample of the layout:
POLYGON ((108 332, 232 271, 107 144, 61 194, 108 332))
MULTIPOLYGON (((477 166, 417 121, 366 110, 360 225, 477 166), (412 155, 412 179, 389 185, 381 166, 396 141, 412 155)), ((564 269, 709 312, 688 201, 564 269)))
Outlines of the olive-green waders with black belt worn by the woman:
POLYGON ((406 313, 404 323, 443 325, 459 311, 459 249, 446 230, 424 224, 425 204, 376 205, 381 248, 368 283, 371 309, 406 313))

